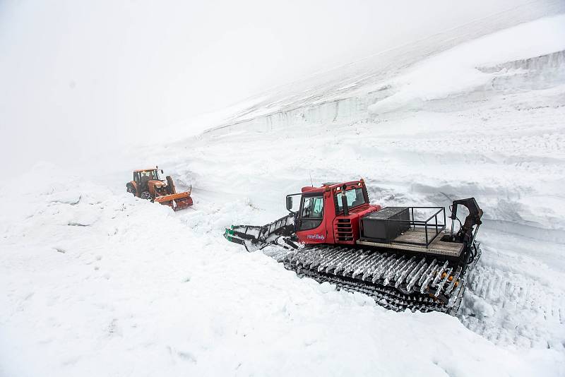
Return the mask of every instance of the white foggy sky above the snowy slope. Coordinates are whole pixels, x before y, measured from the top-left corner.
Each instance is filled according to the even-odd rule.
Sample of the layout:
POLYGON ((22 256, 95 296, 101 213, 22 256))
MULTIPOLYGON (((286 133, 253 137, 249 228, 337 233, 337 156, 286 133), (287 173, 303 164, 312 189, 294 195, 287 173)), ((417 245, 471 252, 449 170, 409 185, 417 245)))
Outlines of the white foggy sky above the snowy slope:
POLYGON ((186 119, 517 2, 0 0, 0 156, 61 164, 196 132, 186 119))

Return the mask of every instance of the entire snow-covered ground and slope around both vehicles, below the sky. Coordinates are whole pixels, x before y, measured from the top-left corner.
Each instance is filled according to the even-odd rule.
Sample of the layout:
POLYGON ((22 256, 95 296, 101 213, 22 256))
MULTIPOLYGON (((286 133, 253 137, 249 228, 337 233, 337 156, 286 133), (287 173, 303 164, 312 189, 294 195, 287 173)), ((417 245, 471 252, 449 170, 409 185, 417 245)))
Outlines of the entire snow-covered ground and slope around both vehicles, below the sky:
POLYGON ((124 171, 8 181, 0 375, 564 375, 564 25, 427 49, 146 150, 139 165, 192 185, 183 212, 127 195, 124 171), (475 196, 483 254, 459 316, 386 311, 221 237, 283 215, 310 177, 364 177, 383 205, 475 196))

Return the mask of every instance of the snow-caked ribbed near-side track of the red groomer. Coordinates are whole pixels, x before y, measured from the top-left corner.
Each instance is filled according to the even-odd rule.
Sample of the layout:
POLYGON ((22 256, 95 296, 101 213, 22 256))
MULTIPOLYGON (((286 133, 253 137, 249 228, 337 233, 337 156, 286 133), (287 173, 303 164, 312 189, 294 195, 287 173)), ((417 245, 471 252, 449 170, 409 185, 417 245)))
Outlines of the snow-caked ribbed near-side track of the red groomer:
POLYGON ((361 292, 395 311, 440 311, 455 315, 469 274, 480 257, 461 274, 461 266, 403 253, 363 251, 339 246, 306 247, 288 253, 285 268, 301 277, 330 282, 338 289, 361 292), (451 279, 451 280, 450 280, 451 279))

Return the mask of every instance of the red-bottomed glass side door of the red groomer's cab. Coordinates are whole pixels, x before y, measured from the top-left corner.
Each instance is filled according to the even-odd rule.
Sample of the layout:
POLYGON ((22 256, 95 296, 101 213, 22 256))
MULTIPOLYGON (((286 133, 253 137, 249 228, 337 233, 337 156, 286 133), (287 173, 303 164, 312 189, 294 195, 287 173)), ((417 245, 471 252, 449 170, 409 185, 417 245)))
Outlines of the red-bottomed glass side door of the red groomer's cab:
POLYGON ((305 244, 326 242, 326 222, 323 221, 323 195, 302 196, 297 235, 305 244))

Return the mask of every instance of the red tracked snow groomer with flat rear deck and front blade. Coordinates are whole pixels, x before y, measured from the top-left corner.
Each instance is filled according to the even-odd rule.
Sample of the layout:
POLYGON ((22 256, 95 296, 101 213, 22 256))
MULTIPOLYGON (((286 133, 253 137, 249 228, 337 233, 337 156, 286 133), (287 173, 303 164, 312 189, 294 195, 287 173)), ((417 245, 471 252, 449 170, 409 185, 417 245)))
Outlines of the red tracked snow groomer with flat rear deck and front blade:
POLYGON ((273 245, 299 276, 369 294, 388 309, 457 313, 481 254, 475 198, 453 201, 450 229, 444 207, 371 205, 363 179, 304 187, 286 205, 289 215, 262 227, 232 225, 225 238, 248 251, 273 245), (469 211, 463 223, 458 205, 469 211))

